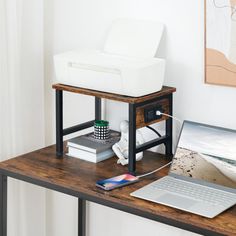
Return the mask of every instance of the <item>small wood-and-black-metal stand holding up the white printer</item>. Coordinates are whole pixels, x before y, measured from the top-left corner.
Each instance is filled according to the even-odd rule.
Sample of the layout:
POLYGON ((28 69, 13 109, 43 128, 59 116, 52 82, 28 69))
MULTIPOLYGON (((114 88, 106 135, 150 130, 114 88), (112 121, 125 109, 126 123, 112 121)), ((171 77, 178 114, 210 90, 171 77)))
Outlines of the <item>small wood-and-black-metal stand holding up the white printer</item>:
POLYGON ((154 146, 164 144, 165 154, 172 157, 172 119, 166 116, 156 116, 155 110, 172 115, 173 93, 175 88, 164 86, 161 91, 141 97, 129 97, 113 93, 105 93, 90 89, 78 88, 63 84, 54 84, 56 90, 56 155, 63 157, 63 136, 92 127, 94 121, 101 119, 101 98, 125 102, 129 104, 129 173, 135 174, 136 153, 154 146), (79 93, 95 97, 95 120, 87 121, 72 127, 63 128, 63 91, 79 93), (136 129, 165 121, 165 135, 145 142, 136 147, 136 129))

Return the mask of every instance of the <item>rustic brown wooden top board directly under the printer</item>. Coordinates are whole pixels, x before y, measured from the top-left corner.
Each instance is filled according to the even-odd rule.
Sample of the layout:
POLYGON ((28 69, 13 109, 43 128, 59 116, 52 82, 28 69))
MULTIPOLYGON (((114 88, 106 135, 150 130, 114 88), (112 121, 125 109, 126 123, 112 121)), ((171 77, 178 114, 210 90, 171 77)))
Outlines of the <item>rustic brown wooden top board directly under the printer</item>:
POLYGON ((129 96, 124 96, 124 95, 119 95, 119 94, 114 94, 114 93, 105 93, 105 92, 91 90, 91 89, 73 87, 73 86, 64 85, 64 84, 54 84, 52 87, 57 90, 96 96, 99 98, 107 98, 110 100, 132 103, 132 104, 144 102, 144 101, 151 100, 157 97, 162 97, 164 95, 168 95, 176 91, 175 88, 163 86, 162 90, 156 93, 151 93, 142 97, 129 97, 129 96))

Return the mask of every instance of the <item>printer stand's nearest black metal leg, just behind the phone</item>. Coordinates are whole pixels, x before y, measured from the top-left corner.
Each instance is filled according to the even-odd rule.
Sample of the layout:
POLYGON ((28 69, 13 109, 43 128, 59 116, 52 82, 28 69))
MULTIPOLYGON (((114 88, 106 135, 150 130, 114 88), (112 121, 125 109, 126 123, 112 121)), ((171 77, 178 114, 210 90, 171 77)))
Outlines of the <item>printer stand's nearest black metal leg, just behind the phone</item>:
POLYGON ((129 104, 129 173, 136 170, 136 106, 129 104))

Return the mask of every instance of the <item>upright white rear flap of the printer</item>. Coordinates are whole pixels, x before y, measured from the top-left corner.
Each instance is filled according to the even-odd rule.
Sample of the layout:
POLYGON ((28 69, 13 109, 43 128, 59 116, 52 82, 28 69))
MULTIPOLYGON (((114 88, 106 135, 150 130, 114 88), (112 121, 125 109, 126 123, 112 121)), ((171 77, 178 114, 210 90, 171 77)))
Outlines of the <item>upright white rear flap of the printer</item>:
POLYGON ((104 46, 105 53, 131 57, 154 57, 164 25, 151 20, 114 20, 104 46))

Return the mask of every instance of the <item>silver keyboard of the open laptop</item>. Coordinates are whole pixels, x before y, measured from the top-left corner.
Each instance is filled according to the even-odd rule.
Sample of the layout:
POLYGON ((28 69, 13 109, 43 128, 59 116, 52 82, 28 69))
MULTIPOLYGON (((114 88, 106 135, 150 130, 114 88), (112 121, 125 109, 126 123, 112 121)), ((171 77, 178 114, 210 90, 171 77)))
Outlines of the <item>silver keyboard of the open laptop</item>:
POLYGON ((152 188, 165 190, 184 197, 204 201, 213 205, 222 205, 235 202, 235 194, 178 180, 173 177, 164 177, 150 185, 152 188))

